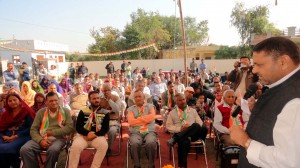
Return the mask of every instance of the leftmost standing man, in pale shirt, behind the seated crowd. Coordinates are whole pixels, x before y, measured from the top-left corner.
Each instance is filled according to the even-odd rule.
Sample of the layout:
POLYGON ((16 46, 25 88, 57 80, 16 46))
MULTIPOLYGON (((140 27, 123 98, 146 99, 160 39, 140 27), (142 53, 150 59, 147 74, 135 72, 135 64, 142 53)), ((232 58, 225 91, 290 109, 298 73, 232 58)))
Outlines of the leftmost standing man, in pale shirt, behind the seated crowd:
POLYGON ((15 70, 13 63, 8 62, 7 63, 7 70, 3 72, 3 76, 5 79, 5 85, 9 88, 13 87, 17 90, 20 90, 19 87, 19 73, 15 70))

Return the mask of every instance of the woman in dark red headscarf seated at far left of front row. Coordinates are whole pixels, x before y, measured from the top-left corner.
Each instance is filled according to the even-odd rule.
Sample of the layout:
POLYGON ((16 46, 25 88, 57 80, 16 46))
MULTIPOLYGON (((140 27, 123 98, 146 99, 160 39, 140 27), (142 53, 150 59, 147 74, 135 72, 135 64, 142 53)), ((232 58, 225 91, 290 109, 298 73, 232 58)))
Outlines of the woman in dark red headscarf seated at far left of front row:
POLYGON ((0 119, 0 165, 20 167, 19 150, 31 139, 30 127, 35 113, 17 94, 6 97, 5 112, 0 119))

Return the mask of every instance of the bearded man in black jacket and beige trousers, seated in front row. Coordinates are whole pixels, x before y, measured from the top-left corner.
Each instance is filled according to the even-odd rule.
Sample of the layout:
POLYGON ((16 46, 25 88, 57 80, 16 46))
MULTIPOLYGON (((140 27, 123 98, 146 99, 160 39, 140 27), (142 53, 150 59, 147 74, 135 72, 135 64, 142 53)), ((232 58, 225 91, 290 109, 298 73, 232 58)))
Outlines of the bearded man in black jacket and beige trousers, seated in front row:
POLYGON ((90 107, 80 110, 77 117, 76 131, 79 135, 70 148, 69 168, 78 167, 80 153, 87 147, 96 149, 91 167, 101 167, 108 148, 105 134, 109 129, 109 111, 101 109, 97 91, 91 91, 88 97, 90 107))

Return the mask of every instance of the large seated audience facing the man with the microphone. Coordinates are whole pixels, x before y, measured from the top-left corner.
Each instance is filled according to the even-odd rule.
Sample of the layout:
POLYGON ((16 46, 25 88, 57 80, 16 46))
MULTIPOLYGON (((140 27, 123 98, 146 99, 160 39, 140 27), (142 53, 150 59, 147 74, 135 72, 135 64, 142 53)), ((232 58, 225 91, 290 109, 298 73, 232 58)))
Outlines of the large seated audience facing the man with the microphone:
MULTIPOLYGON (((11 65, 8 63, 7 71, 14 73, 11 65)), ((231 117, 236 99, 231 90, 236 87, 234 82, 222 82, 218 74, 207 74, 205 69, 190 73, 187 87, 184 72, 164 73, 160 69, 158 74, 150 74, 136 68, 131 74, 130 62, 104 79, 97 73, 88 74, 83 63, 77 67, 71 64, 59 82, 55 73, 40 64, 38 77, 19 83, 11 80, 17 74, 6 79, 0 97, 1 167, 19 167, 19 158, 25 167, 39 167, 36 153, 46 151, 45 167, 52 168, 70 138, 69 167, 78 166, 80 153, 87 147, 96 150, 97 159, 91 167, 100 167, 106 154, 113 155, 121 119, 129 124, 134 167, 141 167, 141 145, 145 146, 149 166, 155 167, 157 112, 164 131, 172 135, 167 144, 178 144, 178 166, 187 167, 189 144, 206 139, 207 120, 213 122, 226 145, 233 145, 228 128, 233 122, 246 127, 249 118, 242 112, 231 117)))

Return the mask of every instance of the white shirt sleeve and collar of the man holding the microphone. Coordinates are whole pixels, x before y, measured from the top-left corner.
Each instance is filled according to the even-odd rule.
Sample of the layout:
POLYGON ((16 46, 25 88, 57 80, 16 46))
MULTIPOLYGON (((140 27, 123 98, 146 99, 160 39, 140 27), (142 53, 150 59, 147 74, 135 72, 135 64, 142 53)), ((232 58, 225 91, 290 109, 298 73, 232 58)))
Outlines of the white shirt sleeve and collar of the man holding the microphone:
MULTIPOLYGON (((286 81, 300 68, 298 67, 269 88, 286 81)), ((300 167, 300 98, 290 100, 277 116, 273 128, 274 146, 266 146, 252 140, 247 149, 249 163, 263 168, 300 167)), ((251 137, 250 137, 251 138, 251 137)))

